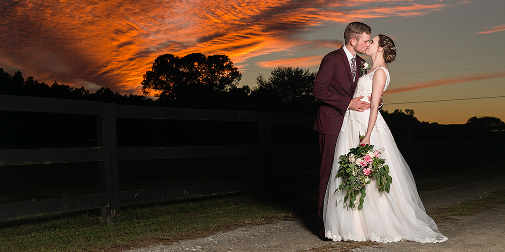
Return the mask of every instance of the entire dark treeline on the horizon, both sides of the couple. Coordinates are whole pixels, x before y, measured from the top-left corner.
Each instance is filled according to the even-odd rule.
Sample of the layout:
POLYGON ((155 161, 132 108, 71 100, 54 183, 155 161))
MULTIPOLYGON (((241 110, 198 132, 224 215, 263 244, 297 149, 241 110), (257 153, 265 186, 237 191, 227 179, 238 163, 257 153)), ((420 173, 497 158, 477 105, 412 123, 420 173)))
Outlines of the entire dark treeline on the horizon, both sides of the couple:
MULTIPOLYGON (((158 56, 143 76, 143 95, 122 95, 101 87, 94 93, 54 82, 51 86, 21 72, 10 75, 0 68, 0 94, 103 101, 116 104, 183 108, 268 111, 314 115, 319 102, 312 95, 316 72, 277 67, 270 76, 256 78, 257 85, 238 87, 242 75, 226 55, 190 53, 158 56), (156 100, 148 98, 154 95, 156 100)), ((385 101, 387 103, 387 101, 385 101)), ((386 121, 419 121, 412 109, 381 111, 386 121)), ((436 123, 436 122, 432 122, 436 123)), ((499 118, 472 117, 467 123, 502 125, 499 118)))

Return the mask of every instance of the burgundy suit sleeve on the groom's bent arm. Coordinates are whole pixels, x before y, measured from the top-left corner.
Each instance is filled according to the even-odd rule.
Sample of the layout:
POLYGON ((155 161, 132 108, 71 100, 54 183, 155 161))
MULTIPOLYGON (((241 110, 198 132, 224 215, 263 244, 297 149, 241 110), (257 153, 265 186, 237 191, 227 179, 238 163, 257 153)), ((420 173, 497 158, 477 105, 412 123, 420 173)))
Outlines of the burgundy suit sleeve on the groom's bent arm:
MULTIPOLYGON (((321 60, 321 66, 316 76, 316 82, 314 84, 313 94, 314 97, 319 99, 324 104, 335 108, 339 113, 344 114, 347 107, 349 107, 350 100, 341 94, 333 92, 329 86, 334 79, 340 79, 342 77, 334 76, 338 73, 337 70, 337 58, 334 55, 326 55, 323 60, 321 60)), ((345 69, 345 68, 344 68, 345 69)), ((344 78, 347 78, 346 76, 344 78)), ((337 84, 338 85, 338 84, 337 84)), ((336 87, 341 88, 341 87, 336 87)), ((335 89, 334 89, 335 90, 335 89)))

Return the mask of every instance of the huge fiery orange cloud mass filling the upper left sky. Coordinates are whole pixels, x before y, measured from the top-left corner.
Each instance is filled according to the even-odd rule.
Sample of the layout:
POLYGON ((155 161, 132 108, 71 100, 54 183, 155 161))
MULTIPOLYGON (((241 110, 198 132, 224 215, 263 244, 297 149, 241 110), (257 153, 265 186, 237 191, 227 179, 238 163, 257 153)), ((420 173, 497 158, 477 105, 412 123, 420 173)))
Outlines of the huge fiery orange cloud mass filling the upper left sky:
MULTIPOLYGON (((336 49, 341 41, 308 40, 302 32, 446 7, 412 0, 7 1, 0 8, 0 67, 47 83, 140 94, 143 74, 164 53, 226 54, 240 64, 274 52, 336 49)), ((262 64, 287 60, 315 65, 310 56, 262 64)))

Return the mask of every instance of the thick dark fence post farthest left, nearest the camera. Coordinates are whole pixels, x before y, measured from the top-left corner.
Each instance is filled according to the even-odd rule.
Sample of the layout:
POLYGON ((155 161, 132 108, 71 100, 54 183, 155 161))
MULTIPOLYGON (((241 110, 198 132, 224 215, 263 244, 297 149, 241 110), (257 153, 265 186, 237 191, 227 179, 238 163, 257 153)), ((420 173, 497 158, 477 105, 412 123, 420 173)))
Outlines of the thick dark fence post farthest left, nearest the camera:
POLYGON ((120 221, 119 169, 117 160, 117 134, 114 104, 105 103, 103 115, 96 118, 97 144, 106 151, 106 160, 99 163, 100 192, 109 196, 109 206, 102 208, 102 219, 114 224, 120 221))

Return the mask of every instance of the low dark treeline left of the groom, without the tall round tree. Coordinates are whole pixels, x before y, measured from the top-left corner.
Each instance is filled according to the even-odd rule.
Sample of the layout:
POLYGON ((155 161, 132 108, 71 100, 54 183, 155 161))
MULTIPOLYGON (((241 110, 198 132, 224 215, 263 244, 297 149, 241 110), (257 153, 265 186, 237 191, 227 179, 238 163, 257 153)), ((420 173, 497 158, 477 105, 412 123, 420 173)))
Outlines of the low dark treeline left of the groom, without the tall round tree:
MULTIPOLYGON (((52 85, 35 80, 32 76, 24 78, 20 71, 10 75, 0 68, 0 94, 36 96, 48 98, 77 99, 103 101, 116 104, 165 106, 204 109, 252 110, 294 114, 315 114, 318 103, 312 97, 312 85, 315 73, 292 67, 279 67, 272 70, 269 79, 260 75, 258 87, 231 87, 227 90, 215 90, 206 85, 188 85, 185 92, 179 92, 177 97, 159 96, 153 100, 147 95, 123 95, 108 87, 101 87, 90 92, 84 87, 75 88, 55 81, 52 85), (271 79, 282 79, 273 83, 271 79), (305 83, 300 84, 299 80, 305 83), (297 85, 291 85, 296 83, 297 85), (299 86, 305 88, 298 92, 299 86), (309 92, 310 88, 310 92, 309 92), (283 95, 285 92, 286 95, 283 95)), ((181 85, 182 86, 182 85, 181 85)))

